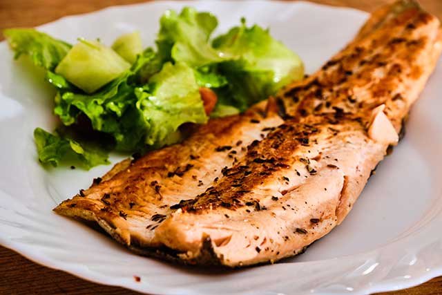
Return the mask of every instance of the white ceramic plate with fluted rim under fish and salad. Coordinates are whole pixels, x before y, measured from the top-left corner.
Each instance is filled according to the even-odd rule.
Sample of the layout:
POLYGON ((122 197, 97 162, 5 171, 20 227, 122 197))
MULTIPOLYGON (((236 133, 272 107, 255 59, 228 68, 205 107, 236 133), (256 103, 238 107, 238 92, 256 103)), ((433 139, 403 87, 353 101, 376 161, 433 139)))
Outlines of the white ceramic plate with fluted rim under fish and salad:
MULTIPOLYGON (((70 42, 100 37, 107 44, 123 32, 140 30, 145 45, 151 45, 162 12, 186 5, 218 15, 220 32, 242 16, 268 26, 300 54, 308 73, 352 39, 367 18, 357 10, 300 2, 155 2, 66 17, 40 29, 70 42)), ((229 272, 136 256, 53 213, 56 204, 111 166, 88 172, 43 169, 32 131, 55 126, 52 90, 29 61, 12 61, 4 42, 0 65, 0 243, 37 263, 151 294, 368 294, 442 275, 442 90, 437 83, 442 60, 412 109, 405 139, 378 167, 342 225, 301 256, 229 272)))

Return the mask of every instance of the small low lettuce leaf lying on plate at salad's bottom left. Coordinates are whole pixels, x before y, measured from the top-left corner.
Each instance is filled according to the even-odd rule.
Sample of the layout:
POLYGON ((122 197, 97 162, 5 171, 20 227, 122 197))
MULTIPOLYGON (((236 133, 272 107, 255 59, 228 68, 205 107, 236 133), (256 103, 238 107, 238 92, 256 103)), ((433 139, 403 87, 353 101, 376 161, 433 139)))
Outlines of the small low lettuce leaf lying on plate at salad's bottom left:
POLYGON ((73 156, 77 158, 81 166, 90 169, 93 166, 109 164, 108 154, 102 149, 93 149, 79 142, 58 134, 51 134, 41 128, 34 131, 34 140, 37 145, 39 161, 57 166, 59 162, 73 156))

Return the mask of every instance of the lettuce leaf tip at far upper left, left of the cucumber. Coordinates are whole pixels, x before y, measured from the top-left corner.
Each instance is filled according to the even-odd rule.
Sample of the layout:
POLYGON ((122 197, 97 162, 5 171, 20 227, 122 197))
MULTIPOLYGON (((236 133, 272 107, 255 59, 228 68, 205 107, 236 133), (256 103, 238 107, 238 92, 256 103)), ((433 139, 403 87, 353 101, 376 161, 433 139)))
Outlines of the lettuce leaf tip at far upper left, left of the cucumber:
POLYGON ((29 55, 35 64, 46 70, 54 70, 70 48, 70 44, 54 39, 44 32, 35 29, 15 28, 3 31, 12 50, 15 51, 15 59, 20 55, 29 55))

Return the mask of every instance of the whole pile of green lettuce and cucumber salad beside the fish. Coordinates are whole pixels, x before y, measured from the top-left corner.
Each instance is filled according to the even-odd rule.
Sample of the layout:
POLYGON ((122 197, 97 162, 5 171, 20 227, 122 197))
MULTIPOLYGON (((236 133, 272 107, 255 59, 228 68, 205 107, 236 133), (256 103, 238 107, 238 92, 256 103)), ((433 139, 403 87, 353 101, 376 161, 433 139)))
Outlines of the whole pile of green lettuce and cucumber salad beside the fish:
POLYGON ((209 12, 167 10, 156 50, 142 48, 139 32, 106 46, 82 38, 72 45, 34 29, 5 30, 15 58, 28 55, 57 90, 60 127, 34 133, 40 162, 57 166, 76 157, 90 169, 108 163, 111 150, 134 153, 174 144, 182 140, 182 124, 209 119, 200 88, 218 97, 210 117, 222 117, 302 79, 298 55, 269 30, 247 27, 242 19, 213 38, 217 26, 209 12))

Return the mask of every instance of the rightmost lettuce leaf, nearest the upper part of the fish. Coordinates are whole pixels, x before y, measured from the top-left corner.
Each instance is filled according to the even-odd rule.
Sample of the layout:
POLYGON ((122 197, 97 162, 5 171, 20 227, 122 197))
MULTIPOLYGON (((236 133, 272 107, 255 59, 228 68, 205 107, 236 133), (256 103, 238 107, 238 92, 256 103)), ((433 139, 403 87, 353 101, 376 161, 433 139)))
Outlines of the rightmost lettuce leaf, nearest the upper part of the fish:
POLYGON ((282 86, 302 79, 304 67, 296 53, 271 37, 260 26, 242 25, 213 40, 213 47, 231 56, 219 64, 228 85, 217 94, 220 102, 244 111, 273 95, 282 86))

